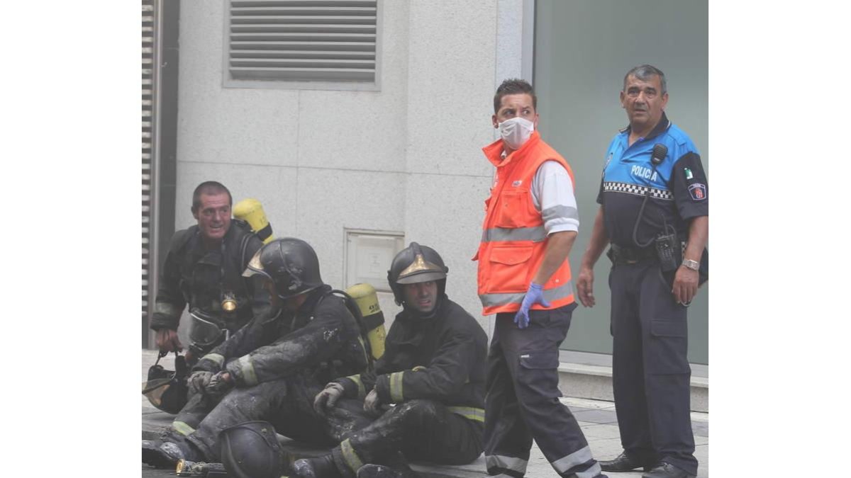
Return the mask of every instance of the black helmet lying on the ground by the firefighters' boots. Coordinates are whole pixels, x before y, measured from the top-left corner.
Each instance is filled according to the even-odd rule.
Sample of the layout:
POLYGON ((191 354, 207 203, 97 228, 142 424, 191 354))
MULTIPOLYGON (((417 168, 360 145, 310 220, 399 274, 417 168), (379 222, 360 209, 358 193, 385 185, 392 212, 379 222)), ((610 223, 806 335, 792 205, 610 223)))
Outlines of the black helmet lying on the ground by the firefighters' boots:
POLYGON ((245 422, 219 434, 221 463, 237 478, 280 478, 283 454, 269 422, 245 422))

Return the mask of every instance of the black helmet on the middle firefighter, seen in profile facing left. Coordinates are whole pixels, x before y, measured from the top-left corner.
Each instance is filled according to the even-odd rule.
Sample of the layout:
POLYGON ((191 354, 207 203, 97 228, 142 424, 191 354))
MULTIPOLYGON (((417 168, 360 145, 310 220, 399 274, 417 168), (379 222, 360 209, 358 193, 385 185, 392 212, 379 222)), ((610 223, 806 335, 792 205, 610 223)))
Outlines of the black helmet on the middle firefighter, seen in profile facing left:
POLYGON ((295 237, 282 237, 260 248, 248 262, 243 276, 255 274, 275 282, 277 296, 288 299, 322 287, 319 259, 311 245, 295 237))

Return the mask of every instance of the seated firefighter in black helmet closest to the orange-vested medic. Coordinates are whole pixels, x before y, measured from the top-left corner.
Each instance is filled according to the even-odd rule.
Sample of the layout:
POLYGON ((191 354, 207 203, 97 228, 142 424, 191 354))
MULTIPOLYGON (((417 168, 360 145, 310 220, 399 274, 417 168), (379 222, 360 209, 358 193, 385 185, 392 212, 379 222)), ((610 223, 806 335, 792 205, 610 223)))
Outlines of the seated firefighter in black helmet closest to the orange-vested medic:
POLYGON ((411 242, 387 280, 403 311, 387 334, 374 372, 338 378, 317 395, 317 413, 363 401, 375 421, 320 458, 294 463, 302 478, 413 475, 407 461, 465 464, 482 453, 487 336, 449 300, 448 268, 434 249, 411 242), (395 407, 386 407, 395 404, 395 407))

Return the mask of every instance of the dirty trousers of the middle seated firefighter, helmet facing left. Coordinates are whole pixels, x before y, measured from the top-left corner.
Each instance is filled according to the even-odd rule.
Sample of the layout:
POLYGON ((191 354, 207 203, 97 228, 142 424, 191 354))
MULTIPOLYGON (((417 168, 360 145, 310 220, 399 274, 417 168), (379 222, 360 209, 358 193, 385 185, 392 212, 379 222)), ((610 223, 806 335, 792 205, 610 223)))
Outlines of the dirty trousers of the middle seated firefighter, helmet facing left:
POLYGON ((190 428, 181 430, 174 426, 174 430, 185 435, 187 441, 203 452, 204 458, 213 462, 220 461, 221 430, 251 420, 266 420, 277 433, 294 440, 333 446, 370 420, 363 416, 360 407, 352 410, 345 405, 336 407, 326 418, 318 416, 313 410, 313 399, 322 388, 313 378, 294 375, 233 389, 216 404, 206 397, 193 396, 174 420, 190 428))

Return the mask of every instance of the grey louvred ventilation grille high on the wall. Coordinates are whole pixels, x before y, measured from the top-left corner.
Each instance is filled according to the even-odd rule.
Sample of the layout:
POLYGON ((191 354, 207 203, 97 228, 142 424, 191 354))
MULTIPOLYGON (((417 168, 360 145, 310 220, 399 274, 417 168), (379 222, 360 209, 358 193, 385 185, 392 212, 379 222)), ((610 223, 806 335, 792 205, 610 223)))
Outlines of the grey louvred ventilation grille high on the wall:
POLYGON ((234 80, 374 83, 375 0, 231 0, 234 80))

